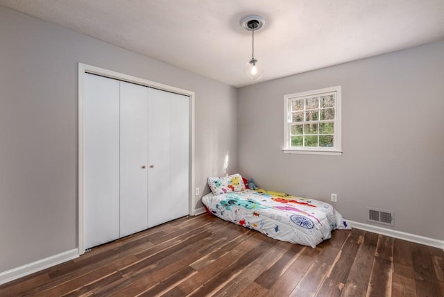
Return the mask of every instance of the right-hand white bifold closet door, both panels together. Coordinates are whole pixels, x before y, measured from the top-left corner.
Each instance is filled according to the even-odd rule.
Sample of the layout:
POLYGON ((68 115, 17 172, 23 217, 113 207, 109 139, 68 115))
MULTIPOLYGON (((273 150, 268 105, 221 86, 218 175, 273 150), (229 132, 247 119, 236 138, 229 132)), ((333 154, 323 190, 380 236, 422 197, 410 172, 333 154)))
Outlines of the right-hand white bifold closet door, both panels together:
POLYGON ((189 104, 179 96, 187 101, 148 91, 149 227, 189 214, 189 104))

